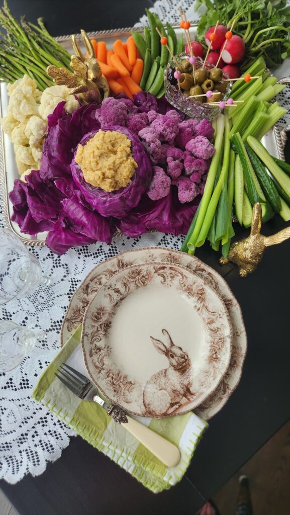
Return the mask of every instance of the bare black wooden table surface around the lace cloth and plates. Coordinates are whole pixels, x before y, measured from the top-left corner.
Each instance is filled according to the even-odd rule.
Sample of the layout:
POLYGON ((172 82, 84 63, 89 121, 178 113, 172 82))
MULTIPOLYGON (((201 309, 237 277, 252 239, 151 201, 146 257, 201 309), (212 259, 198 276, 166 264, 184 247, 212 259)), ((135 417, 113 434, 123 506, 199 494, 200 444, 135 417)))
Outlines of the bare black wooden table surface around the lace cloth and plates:
MULTIPOLYGON (((80 28, 131 26, 152 2, 9 0, 9 5, 16 15, 25 12, 31 21, 43 15, 48 29, 57 36, 80 28)), ((271 234, 285 225, 276 217, 263 232, 271 234)), ((248 233, 236 229, 237 238, 248 233)), ((240 302, 248 353, 240 385, 210 421, 185 477, 169 491, 152 494, 76 437, 41 476, 25 476, 16 485, 0 483, 20 515, 194 515, 290 418, 290 240, 267 249, 257 271, 246 279, 238 277, 233 265, 220 268, 217 254, 207 245, 197 256, 226 277, 240 302)))

